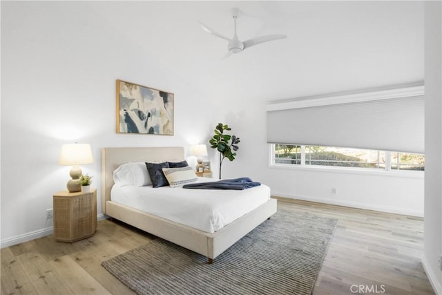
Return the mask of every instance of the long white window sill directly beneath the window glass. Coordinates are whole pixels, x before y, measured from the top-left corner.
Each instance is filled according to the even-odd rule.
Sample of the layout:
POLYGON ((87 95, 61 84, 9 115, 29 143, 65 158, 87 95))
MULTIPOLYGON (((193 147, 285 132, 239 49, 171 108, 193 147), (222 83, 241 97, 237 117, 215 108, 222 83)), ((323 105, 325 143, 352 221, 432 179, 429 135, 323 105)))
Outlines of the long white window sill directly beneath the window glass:
POLYGON ((343 173, 343 174, 361 174, 361 175, 375 175, 395 178, 424 178, 425 171, 397 171, 384 169, 357 169, 357 168, 343 168, 330 166, 306 166, 306 165, 287 165, 287 164, 270 164, 270 169, 287 169, 297 171, 314 171, 323 173, 343 173))

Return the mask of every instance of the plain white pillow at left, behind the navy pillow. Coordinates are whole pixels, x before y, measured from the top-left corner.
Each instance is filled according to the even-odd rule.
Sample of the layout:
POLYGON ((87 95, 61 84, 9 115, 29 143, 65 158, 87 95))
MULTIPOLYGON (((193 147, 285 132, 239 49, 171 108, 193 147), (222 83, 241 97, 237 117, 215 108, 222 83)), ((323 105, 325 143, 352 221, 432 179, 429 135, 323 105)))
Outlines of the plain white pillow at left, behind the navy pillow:
POLYGON ((120 185, 135 185, 136 187, 144 187, 152 184, 151 176, 148 174, 145 162, 120 165, 113 171, 113 182, 120 185))

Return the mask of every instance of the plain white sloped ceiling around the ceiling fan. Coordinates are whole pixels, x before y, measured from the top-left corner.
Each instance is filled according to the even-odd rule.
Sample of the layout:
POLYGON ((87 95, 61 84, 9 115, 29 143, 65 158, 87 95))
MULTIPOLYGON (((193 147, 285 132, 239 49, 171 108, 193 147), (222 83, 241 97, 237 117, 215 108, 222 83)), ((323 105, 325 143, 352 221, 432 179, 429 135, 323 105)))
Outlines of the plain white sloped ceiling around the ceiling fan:
POLYGON ((360 91, 423 81, 423 2, 178 1, 107 2, 94 8, 116 30, 203 91, 259 101, 360 91), (233 36, 287 39, 222 57, 233 36))

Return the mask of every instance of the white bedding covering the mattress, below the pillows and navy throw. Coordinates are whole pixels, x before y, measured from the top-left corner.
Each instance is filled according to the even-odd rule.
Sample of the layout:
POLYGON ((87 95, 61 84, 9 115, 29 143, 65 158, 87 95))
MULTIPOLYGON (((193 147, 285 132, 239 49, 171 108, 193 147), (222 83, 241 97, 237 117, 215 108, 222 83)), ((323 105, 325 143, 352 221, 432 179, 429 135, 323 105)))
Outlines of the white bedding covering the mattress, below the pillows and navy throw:
MULTIPOLYGON (((198 182, 214 181, 199 178, 198 182)), ((265 184, 243 191, 135 187, 114 184, 111 200, 147 213, 213 233, 270 198, 265 184)))

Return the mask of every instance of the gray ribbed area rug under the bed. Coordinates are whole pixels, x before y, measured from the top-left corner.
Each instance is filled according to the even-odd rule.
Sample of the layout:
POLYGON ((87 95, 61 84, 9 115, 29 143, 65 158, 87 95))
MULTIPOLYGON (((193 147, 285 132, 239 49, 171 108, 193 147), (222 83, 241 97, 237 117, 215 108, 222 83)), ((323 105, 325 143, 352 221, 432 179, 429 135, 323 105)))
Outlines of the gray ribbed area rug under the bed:
POLYGON ((137 294, 311 294, 336 222, 278 211, 211 265, 157 238, 102 266, 137 294))

